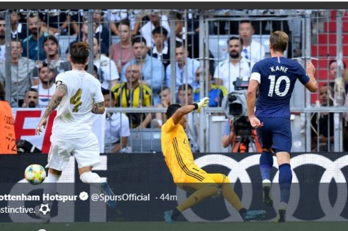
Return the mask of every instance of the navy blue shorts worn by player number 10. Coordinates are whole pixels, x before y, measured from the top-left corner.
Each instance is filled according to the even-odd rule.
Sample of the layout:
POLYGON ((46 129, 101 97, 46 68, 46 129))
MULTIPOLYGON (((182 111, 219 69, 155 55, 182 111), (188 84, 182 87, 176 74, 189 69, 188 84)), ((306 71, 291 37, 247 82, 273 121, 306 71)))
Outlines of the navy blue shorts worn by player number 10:
POLYGON ((275 153, 290 153, 292 146, 290 119, 284 117, 258 117, 258 119, 263 122, 263 127, 257 128, 262 149, 272 148, 275 153))

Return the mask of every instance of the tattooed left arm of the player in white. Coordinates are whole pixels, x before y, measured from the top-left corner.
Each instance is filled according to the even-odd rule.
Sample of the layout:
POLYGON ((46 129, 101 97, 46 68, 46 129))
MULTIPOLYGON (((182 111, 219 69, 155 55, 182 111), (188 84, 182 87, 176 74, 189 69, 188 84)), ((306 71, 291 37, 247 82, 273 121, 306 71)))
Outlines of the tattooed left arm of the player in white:
POLYGON ((51 100, 49 101, 46 111, 35 129, 36 135, 40 135, 40 132, 42 132, 41 126, 44 126, 44 128, 46 128, 47 117, 58 107, 59 103, 62 101, 63 97, 67 94, 67 92, 68 88, 64 84, 60 84, 56 87, 56 91, 54 92, 51 100))

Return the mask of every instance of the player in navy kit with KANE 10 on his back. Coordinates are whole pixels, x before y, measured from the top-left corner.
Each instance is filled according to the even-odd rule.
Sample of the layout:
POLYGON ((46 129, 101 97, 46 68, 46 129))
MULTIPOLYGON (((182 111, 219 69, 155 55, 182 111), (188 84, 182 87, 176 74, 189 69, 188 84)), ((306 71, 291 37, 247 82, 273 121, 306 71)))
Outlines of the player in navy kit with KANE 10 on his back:
POLYGON ((286 206, 290 197, 292 172, 290 151, 292 136, 290 128, 290 97, 298 78, 305 87, 316 92, 315 68, 307 63, 302 66, 283 57, 289 37, 283 31, 275 31, 269 37, 270 58, 256 63, 250 77, 247 104, 251 125, 257 129, 262 146, 260 171, 262 176, 263 203, 272 206, 269 172, 273 166, 273 151, 279 166, 280 207, 276 222, 285 222, 286 206), (307 73, 307 75, 306 75, 307 73), (256 103, 256 91, 259 96, 256 103))

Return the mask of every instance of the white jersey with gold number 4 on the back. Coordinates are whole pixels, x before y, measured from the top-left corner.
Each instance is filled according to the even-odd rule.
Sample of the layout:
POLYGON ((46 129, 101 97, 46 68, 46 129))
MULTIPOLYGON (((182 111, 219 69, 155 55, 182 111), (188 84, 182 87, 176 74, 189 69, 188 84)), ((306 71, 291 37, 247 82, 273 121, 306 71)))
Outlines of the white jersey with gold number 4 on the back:
POLYGON ((98 79, 83 71, 67 71, 56 77, 56 84, 64 84, 68 93, 57 107, 52 134, 61 139, 78 139, 91 133, 93 102, 104 101, 98 79))

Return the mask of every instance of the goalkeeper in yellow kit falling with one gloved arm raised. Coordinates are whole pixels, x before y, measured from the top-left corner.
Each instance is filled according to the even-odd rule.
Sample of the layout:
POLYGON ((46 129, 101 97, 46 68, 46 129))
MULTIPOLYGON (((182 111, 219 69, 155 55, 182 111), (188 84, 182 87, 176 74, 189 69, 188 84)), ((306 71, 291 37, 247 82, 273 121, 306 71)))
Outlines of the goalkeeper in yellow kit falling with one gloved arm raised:
POLYGON ((167 122, 162 126, 161 145, 167 166, 171 171, 174 183, 185 191, 194 191, 185 201, 173 210, 165 212, 165 221, 172 223, 182 211, 188 209, 207 197, 220 193, 239 212, 244 221, 260 220, 265 216, 264 210, 248 211, 233 191, 228 177, 221 173, 210 174, 199 168, 193 161, 188 143, 186 114, 197 110, 200 112, 209 103, 205 97, 196 103, 180 106, 171 104, 167 109, 167 122))

